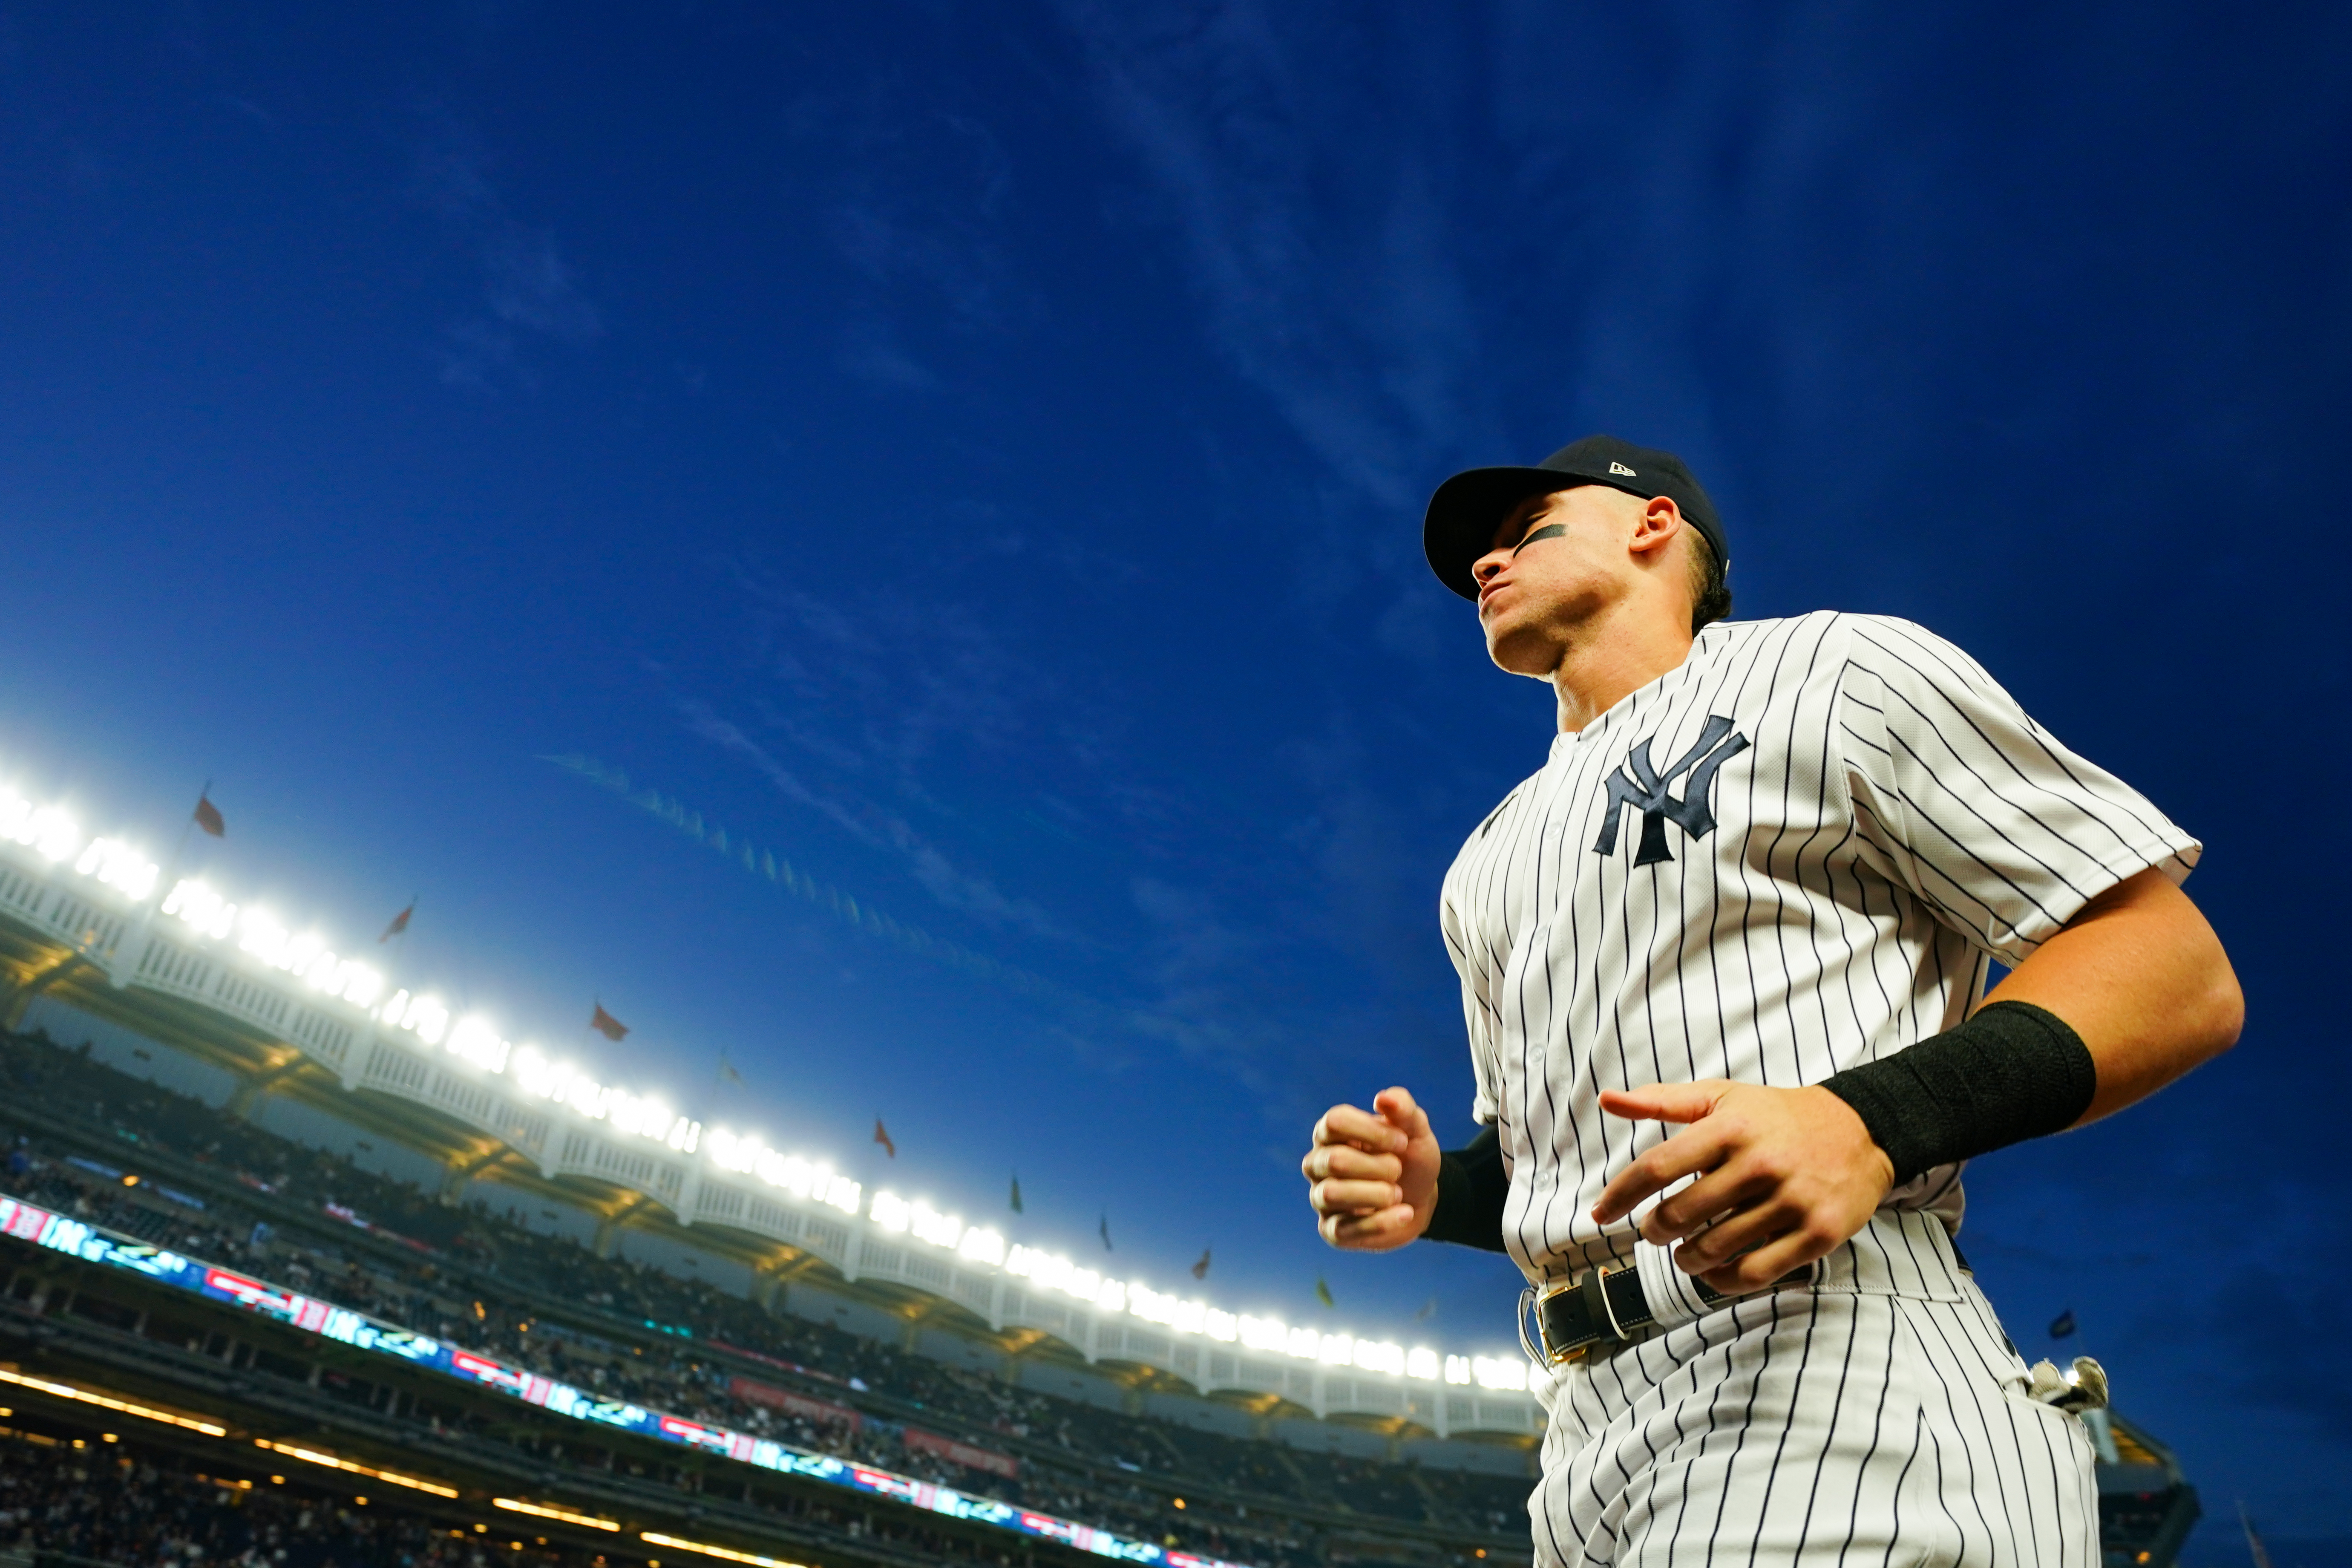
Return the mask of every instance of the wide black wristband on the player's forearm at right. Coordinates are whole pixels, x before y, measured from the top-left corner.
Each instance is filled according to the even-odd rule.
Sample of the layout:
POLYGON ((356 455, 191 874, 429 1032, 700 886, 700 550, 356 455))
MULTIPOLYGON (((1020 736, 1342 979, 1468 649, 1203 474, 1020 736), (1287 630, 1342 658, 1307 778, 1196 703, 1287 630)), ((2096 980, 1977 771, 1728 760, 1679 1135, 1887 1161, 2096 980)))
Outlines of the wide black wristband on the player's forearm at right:
POLYGON ((1900 1187, 1955 1159, 2074 1126, 2098 1093, 2098 1065, 2058 1013, 1994 1001, 1957 1030, 1820 1086, 1863 1119, 1900 1187))

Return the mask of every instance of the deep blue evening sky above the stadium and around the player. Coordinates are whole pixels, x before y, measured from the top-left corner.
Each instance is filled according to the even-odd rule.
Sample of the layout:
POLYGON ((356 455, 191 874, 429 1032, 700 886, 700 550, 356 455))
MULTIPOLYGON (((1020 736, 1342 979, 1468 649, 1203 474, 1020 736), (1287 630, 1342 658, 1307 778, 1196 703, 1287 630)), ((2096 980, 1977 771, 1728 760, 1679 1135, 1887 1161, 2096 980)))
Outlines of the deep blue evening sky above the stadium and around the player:
POLYGON ((216 882, 421 893, 414 976, 708 1119, 1501 1345, 1508 1265, 1296 1178, 1388 1081, 1468 1131, 1437 879, 1550 738, 1418 510, 1675 447, 1740 614, 1924 621, 2206 839, 2246 1041, 1966 1244, 2336 1535, 2347 73, 2246 5, 9 7, 0 771, 158 842, 212 776, 216 882))

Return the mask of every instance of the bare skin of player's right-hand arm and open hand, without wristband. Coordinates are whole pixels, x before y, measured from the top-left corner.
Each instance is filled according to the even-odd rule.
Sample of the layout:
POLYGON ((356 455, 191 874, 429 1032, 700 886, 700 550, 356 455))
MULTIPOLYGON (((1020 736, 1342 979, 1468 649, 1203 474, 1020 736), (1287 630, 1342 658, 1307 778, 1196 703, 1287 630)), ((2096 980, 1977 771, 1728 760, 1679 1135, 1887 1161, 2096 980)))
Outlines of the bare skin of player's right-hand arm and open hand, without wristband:
MULTIPOLYGON (((2084 905, 1985 997, 1999 1001, 2030 1001, 2082 1037, 2098 1086, 2077 1126, 2227 1051, 2246 1011, 2213 929, 2159 870, 2084 905)), ((1621 1171, 1592 1218, 1621 1220, 1698 1175, 1642 1234, 1682 1241, 1677 1265, 1724 1293, 1762 1288, 1846 1241, 1896 1175, 1863 1117, 1820 1086, 1663 1084, 1606 1091, 1602 1107, 1689 1126, 1621 1171)))

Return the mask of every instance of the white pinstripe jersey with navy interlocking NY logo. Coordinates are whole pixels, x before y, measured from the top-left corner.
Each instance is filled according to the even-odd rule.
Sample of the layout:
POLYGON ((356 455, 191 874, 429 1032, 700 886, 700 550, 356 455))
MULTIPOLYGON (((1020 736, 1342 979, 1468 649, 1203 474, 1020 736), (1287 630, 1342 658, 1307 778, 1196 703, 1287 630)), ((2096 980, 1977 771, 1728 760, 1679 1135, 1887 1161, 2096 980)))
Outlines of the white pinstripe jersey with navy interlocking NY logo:
MULTIPOLYGON (((1531 1279, 1625 1255, 1592 1204, 1677 1128, 1604 1088, 1818 1084, 1938 1034, 2093 896, 2199 844, 1950 642, 1715 623, 1479 823, 1439 905, 1531 1279)), ((1959 1168, 1889 1197, 1959 1229, 1959 1168)))

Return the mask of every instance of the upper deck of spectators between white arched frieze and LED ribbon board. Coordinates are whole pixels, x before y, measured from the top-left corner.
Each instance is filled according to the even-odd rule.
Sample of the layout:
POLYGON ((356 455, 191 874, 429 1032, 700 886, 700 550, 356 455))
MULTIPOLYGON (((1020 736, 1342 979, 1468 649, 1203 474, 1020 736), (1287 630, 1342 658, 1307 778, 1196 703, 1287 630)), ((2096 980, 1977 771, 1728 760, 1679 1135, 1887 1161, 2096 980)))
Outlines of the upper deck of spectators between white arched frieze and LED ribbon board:
POLYGON ((1324 1530, 1301 1509, 1489 1537, 1526 1528, 1526 1481, 1308 1453, 1021 1389, 771 1314, 694 1279, 597 1258, 527 1229, 520 1215, 442 1204, 103 1067, 87 1051, 0 1037, 0 1077, 24 1091, 21 1103, 85 1133, 68 1147, 45 1126, 19 1131, 0 1100, 0 1128, 14 1135, 0 1185, 12 1194, 597 1394, 1254 1563, 1324 1561, 1324 1530), (136 1150, 193 1161, 200 1182, 172 1180, 202 1192, 153 1178, 125 1187, 125 1171, 82 1152, 89 1133, 111 1138, 125 1168, 136 1150), (287 1204, 303 1222, 287 1220, 287 1204), (358 1241, 362 1227, 374 1244, 358 1241), (564 1309, 548 1314, 550 1302, 564 1309), (797 1401, 800 1413, 776 1408, 757 1389, 746 1396, 746 1375, 809 1399, 797 1401), (828 1420, 811 1403, 851 1415, 828 1420), (953 1462, 941 1443, 910 1443, 910 1429, 1002 1450, 1018 1474, 953 1462))

